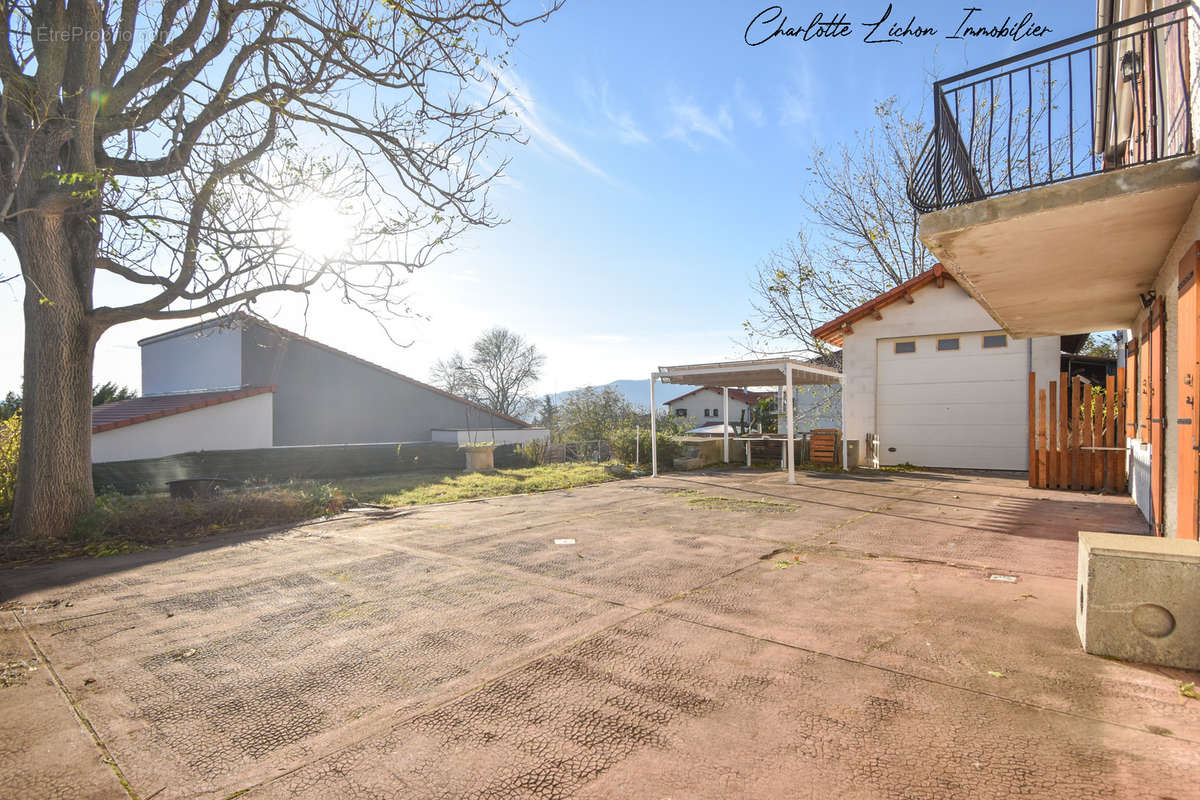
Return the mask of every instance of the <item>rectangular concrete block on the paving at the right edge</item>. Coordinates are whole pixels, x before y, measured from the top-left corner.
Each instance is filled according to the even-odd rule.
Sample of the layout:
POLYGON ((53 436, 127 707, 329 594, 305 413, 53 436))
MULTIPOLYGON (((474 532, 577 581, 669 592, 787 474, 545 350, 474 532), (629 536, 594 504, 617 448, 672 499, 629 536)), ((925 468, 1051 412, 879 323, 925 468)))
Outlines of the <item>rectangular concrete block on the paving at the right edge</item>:
POLYGON ((1079 533, 1084 650, 1200 669, 1200 542, 1079 533))

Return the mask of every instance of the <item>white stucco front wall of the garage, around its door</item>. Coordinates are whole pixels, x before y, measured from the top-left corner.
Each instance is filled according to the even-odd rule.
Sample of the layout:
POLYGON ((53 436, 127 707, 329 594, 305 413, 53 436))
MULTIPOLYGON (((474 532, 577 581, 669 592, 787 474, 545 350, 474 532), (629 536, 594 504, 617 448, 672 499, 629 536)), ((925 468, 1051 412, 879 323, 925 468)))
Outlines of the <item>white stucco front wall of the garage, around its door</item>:
MULTIPOLYGON (((913 302, 893 302, 880 311, 883 319, 862 319, 854 323, 853 333, 842 343, 842 372, 845 374, 844 429, 847 439, 865 439, 868 433, 877 433, 876 426, 876 349, 878 339, 936 335, 1002 333, 996 321, 988 315, 966 291, 953 281, 944 288, 926 285, 912 295, 913 302)), ((1039 387, 1058 378, 1060 339, 1057 336, 1033 339, 1010 339, 1009 348, 1026 353, 1014 369, 1014 378, 1027 381, 1030 368, 1037 373, 1039 387)), ((980 360, 980 365, 986 359, 980 360)), ((986 365, 990 367, 990 365, 986 365)), ((1022 405, 1024 407, 1024 405, 1022 405)), ((1028 431, 1025 431, 1027 447, 1028 431)))

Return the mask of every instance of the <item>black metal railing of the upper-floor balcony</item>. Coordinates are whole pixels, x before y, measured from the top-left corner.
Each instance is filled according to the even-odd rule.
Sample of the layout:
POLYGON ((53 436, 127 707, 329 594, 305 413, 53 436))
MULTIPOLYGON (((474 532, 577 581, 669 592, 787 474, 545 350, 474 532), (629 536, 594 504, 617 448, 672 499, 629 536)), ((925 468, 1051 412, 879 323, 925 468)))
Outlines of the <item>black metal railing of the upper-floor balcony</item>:
POLYGON ((1190 154, 1193 2, 934 84, 908 178, 922 213, 1190 154))

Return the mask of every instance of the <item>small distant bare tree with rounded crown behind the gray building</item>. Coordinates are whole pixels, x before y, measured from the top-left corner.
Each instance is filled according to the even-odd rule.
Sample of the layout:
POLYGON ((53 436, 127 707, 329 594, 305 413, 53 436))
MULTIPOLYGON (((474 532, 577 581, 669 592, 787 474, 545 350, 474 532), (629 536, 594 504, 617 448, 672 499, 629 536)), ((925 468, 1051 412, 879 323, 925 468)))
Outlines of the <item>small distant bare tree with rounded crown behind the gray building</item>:
POLYGON ((470 356, 455 353, 433 366, 433 383, 487 408, 526 416, 533 410, 530 391, 546 356, 506 327, 492 327, 475 339, 470 356))

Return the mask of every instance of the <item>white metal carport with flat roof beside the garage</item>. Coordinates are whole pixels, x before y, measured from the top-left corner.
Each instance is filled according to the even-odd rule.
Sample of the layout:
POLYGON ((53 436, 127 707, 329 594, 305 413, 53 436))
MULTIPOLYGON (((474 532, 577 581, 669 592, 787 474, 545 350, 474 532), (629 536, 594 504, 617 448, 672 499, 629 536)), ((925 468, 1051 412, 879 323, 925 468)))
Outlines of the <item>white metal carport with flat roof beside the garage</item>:
MULTIPOLYGON (((784 386, 787 416, 787 482, 796 482, 796 416, 793 389, 796 386, 828 386, 841 384, 840 372, 827 367, 817 367, 791 359, 763 359, 760 361, 725 361, 719 363, 689 363, 678 367, 659 367, 650 373, 650 474, 659 474, 659 425, 658 404, 654 402, 654 386, 661 380, 665 384, 686 384, 691 386, 720 386, 724 395, 722 409, 725 433, 725 462, 730 461, 730 387, 746 386, 784 386)), ((842 391, 842 404, 846 392, 842 391)), ((749 444, 746 445, 749 446, 749 444)), ((846 432, 841 435, 841 465, 847 467, 846 432)))

